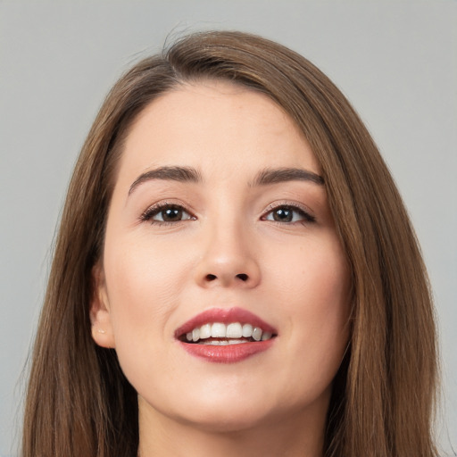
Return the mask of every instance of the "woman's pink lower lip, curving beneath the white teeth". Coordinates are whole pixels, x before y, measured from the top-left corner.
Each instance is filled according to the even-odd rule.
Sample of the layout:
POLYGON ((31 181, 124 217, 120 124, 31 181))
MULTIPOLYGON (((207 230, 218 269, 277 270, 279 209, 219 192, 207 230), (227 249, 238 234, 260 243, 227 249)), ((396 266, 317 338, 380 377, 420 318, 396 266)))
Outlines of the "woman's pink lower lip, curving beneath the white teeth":
POLYGON ((179 344, 191 355, 204 359, 205 361, 212 361, 213 363, 235 363, 237 361, 244 361, 257 353, 263 353, 271 347, 274 338, 252 342, 243 343, 240 345, 191 345, 188 343, 179 342, 179 344))

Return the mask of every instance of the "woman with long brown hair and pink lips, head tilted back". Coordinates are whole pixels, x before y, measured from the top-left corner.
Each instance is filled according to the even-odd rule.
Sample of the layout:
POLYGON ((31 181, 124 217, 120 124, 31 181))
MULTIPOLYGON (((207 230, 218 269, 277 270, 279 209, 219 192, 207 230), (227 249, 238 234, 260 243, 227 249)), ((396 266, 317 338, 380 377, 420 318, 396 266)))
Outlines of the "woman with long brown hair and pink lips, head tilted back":
POLYGON ((310 62, 190 35, 112 88, 71 180, 23 455, 436 455, 408 216, 310 62))

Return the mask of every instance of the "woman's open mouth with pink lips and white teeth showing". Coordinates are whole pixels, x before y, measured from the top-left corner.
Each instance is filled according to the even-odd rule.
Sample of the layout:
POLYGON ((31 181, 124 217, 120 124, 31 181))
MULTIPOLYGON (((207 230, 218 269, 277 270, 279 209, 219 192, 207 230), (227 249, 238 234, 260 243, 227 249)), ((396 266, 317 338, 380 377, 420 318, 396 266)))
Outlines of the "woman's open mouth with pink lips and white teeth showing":
POLYGON ((252 312, 214 308, 188 320, 175 337, 191 355, 206 361, 234 362, 266 351, 278 332, 252 312))

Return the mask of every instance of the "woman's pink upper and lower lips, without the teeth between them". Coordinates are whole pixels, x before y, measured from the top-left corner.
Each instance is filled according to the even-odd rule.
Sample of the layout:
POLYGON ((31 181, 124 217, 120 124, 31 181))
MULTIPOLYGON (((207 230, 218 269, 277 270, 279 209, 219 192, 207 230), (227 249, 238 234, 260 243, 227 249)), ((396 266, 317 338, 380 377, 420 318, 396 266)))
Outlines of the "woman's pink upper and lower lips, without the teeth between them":
POLYGON ((194 318, 187 320, 186 323, 177 328, 175 337, 179 345, 187 353, 205 361, 215 363, 244 361, 248 357, 268 350, 274 344, 276 338, 273 337, 269 340, 243 343, 241 345, 195 345, 178 339, 187 332, 192 331, 195 327, 201 327, 210 322, 221 322, 223 324, 229 324, 231 322, 250 323, 255 327, 262 328, 263 331, 269 331, 273 335, 278 335, 276 328, 270 326, 270 324, 262 320, 259 316, 241 308, 212 308, 211 310, 197 314, 194 318))

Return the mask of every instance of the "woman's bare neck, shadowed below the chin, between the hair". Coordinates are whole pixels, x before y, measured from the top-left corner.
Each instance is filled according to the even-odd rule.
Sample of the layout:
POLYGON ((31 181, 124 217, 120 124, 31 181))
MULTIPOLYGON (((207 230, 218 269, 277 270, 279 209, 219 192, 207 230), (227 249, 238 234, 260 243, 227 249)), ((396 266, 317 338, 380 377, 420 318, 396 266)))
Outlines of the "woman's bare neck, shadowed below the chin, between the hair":
POLYGON ((322 457, 325 414, 302 412, 238 430, 220 431, 183 423, 142 407, 139 399, 138 457, 322 457))

